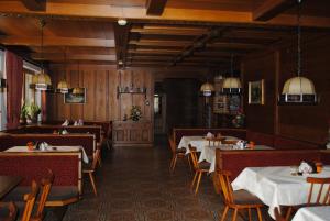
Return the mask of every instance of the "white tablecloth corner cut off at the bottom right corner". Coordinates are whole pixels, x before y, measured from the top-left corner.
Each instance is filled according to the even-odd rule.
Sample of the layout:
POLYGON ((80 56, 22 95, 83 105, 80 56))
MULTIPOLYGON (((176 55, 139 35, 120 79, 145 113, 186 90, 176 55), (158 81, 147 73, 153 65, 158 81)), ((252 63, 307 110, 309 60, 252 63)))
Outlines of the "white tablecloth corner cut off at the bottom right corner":
POLYGON ((305 207, 297 211, 292 221, 329 221, 330 206, 305 207))

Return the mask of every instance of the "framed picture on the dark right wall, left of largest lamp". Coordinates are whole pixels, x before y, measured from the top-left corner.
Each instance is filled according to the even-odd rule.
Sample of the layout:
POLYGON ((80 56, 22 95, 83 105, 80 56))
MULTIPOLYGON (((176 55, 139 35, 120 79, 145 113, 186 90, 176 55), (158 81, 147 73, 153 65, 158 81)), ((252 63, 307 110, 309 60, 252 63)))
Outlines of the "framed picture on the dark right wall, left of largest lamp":
POLYGON ((265 103, 265 86, 264 79, 257 81, 249 81, 249 104, 265 103))

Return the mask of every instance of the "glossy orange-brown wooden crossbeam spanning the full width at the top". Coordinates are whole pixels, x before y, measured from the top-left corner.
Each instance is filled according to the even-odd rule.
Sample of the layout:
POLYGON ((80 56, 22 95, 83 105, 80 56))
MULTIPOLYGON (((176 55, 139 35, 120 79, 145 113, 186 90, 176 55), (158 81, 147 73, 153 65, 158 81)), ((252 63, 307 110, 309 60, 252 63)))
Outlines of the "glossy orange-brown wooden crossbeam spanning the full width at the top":
MULTIPOLYGON (((263 25, 285 25, 296 26, 297 16, 295 14, 279 14, 267 22, 253 20, 253 13, 250 11, 221 11, 221 10, 194 10, 165 8, 161 16, 151 16, 146 14, 145 8, 140 7, 113 7, 109 4, 81 4, 66 1, 50 1, 45 11, 31 11, 19 0, 1 0, 0 13, 6 14, 29 14, 29 15, 48 15, 48 16, 73 16, 73 18, 92 18, 108 19, 116 21, 124 16, 128 20, 145 21, 187 21, 187 22, 215 22, 215 23, 239 23, 239 24, 263 24, 263 25)), ((330 29, 330 18, 327 16, 301 16, 301 26, 326 27, 330 29)))

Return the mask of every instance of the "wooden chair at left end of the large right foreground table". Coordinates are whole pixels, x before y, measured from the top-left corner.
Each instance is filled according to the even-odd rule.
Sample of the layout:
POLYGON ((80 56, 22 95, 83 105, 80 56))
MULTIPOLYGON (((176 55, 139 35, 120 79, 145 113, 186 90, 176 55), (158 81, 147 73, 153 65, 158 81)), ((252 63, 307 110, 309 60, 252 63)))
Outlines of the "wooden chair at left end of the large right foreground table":
POLYGON ((248 209, 250 221, 252 220, 251 209, 256 209, 257 218, 260 221, 262 221, 262 212, 261 212, 261 208, 263 207, 262 201, 257 197, 251 195, 249 191, 245 190, 233 191, 230 181, 230 176, 231 176, 230 172, 221 170, 217 173, 219 175, 220 186, 221 186, 221 190, 224 198, 224 205, 226 205, 224 211, 221 217, 221 221, 226 220, 229 209, 234 210, 232 217, 233 221, 237 220, 238 212, 239 210, 242 209, 248 209))

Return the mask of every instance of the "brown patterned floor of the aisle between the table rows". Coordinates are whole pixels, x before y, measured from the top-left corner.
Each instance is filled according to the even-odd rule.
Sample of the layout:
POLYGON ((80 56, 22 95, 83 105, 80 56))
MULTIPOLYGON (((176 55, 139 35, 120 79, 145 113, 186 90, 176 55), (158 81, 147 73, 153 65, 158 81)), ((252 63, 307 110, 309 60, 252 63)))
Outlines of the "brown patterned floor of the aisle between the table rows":
POLYGON ((219 220, 223 205, 210 177, 202 179, 195 196, 189 189, 188 166, 178 162, 170 175, 169 159, 166 143, 109 152, 97 172, 99 196, 94 196, 89 180, 85 179, 84 199, 69 206, 64 221, 219 220))

